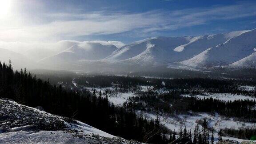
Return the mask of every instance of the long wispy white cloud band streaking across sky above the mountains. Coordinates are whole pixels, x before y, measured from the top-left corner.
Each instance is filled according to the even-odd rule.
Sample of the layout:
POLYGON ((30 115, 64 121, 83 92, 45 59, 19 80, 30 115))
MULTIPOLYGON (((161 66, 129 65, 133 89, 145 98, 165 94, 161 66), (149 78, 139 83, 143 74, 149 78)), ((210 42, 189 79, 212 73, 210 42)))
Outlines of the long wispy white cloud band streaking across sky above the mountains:
MULTIPOLYGON (((108 35, 124 32, 175 30, 211 23, 256 16, 254 4, 190 8, 177 11, 44 13, 41 24, 0 24, 0 40, 66 39, 76 36, 108 35)), ((24 20, 23 20, 24 21, 24 20)))

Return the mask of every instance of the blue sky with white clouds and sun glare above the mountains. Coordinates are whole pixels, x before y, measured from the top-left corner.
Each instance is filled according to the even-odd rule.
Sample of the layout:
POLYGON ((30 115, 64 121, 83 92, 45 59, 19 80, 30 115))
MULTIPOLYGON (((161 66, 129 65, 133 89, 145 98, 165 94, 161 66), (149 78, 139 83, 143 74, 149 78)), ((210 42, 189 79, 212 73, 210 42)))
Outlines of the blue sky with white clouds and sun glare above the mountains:
POLYGON ((120 41, 256 28, 256 0, 0 0, 0 41, 120 41))

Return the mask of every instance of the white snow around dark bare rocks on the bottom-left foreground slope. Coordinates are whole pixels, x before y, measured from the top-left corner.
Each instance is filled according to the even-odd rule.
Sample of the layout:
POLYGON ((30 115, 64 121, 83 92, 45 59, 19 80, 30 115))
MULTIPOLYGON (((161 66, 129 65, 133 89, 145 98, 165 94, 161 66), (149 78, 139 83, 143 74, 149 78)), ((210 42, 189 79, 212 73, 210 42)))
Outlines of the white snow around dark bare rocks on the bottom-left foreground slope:
MULTIPOLYGON (((52 115, 50 113, 40 111, 36 108, 27 107, 21 104, 17 104, 14 101, 11 100, 3 100, 0 99, 0 103, 2 111, 6 112, 14 112, 14 110, 17 110, 17 113, 15 115, 22 116, 23 113, 28 113, 27 116, 34 116, 31 120, 33 120, 35 117, 37 120, 45 120, 45 123, 49 122, 49 120, 59 120, 64 121, 64 125, 67 128, 64 128, 64 130, 59 131, 38 131, 34 130, 36 128, 35 125, 23 125, 23 126, 17 126, 8 129, 8 132, 3 132, 1 130, 0 132, 0 144, 3 143, 97 143, 99 140, 93 138, 93 136, 101 136, 108 137, 108 138, 117 138, 116 136, 113 136, 111 134, 108 134, 106 132, 103 132, 97 128, 94 128, 88 124, 84 124, 80 121, 75 120, 76 122, 67 122, 63 117, 52 115), (12 109, 11 108, 15 108, 12 109), (77 130, 77 132, 73 132, 73 130, 77 130), (82 137, 82 138, 81 138, 82 137)), ((13 115, 13 114, 12 114, 13 115)), ((28 117, 29 118, 29 117, 28 117)), ((33 121, 31 121, 33 123, 33 121)), ((11 122, 5 122, 0 124, 2 125, 8 125, 11 124, 11 122)))

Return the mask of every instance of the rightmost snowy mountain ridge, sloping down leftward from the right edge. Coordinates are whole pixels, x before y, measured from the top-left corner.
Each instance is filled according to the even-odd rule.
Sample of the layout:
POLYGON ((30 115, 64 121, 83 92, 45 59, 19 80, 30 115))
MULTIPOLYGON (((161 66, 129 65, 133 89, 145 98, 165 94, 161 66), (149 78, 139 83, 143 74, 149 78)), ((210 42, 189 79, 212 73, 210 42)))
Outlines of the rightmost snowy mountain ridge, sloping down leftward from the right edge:
POLYGON ((181 64, 192 67, 212 67, 232 64, 254 52, 256 47, 256 29, 242 32, 233 36, 223 44, 208 48, 191 59, 184 60, 181 64))

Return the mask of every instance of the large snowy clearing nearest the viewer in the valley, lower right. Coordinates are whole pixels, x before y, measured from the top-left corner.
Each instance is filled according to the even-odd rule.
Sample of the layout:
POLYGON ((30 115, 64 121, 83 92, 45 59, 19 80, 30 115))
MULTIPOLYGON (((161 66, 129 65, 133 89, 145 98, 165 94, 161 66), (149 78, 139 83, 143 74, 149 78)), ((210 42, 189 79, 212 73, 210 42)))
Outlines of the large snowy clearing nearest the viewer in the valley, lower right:
MULTIPOLYGON (((148 120, 156 119, 157 115, 153 113, 148 113, 148 112, 142 112, 142 111, 137 111, 136 112, 138 115, 143 115, 145 118, 148 120)), ((256 128, 256 123, 246 123, 246 122, 240 122, 240 121, 235 121, 232 119, 227 119, 225 117, 221 117, 218 114, 215 116, 209 115, 207 113, 192 113, 192 115, 179 115, 176 117, 173 116, 167 116, 167 115, 159 115, 160 123, 164 124, 167 128, 171 130, 175 130, 175 132, 179 132, 180 126, 182 128, 187 128, 188 131, 190 131, 193 134, 194 128, 197 125, 197 122, 199 120, 206 119, 208 121, 208 127, 213 127, 216 132, 214 133, 214 141, 215 144, 218 141, 218 131, 220 128, 256 128)), ((201 126, 200 126, 201 127, 201 126)), ((229 139, 229 140, 236 140, 239 142, 242 142, 244 140, 242 139, 237 139, 233 137, 223 137, 223 139, 229 139)), ((256 141, 255 141, 256 142, 256 141)))

